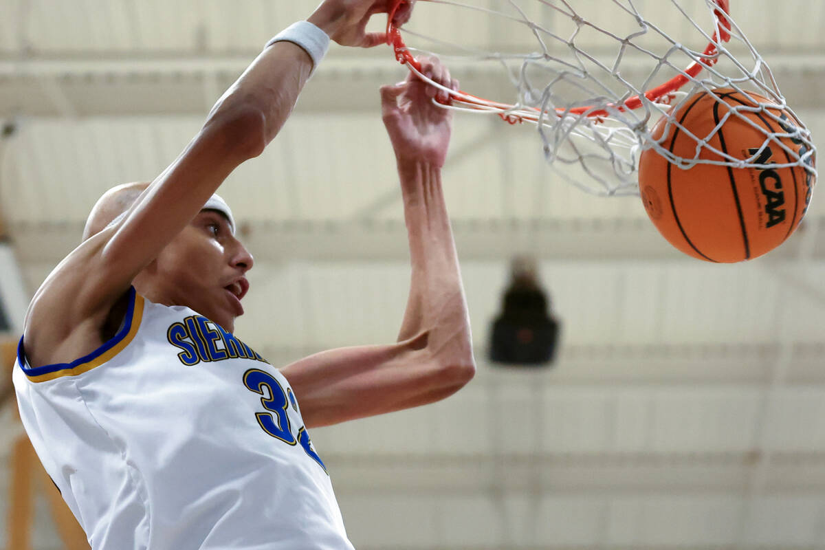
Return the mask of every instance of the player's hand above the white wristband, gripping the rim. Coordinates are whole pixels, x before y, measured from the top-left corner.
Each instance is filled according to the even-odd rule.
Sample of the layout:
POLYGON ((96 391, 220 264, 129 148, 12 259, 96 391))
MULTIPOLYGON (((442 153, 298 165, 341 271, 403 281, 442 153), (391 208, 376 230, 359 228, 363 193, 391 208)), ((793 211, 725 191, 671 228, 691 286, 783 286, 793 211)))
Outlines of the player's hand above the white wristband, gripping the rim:
MULTIPOLYGON (((389 13, 398 0, 324 0, 309 16, 310 23, 326 32, 342 46, 372 48, 387 41, 383 32, 367 32, 370 18, 377 13, 389 13)), ((395 13, 394 23, 402 26, 413 15, 416 0, 404 0, 395 13)))

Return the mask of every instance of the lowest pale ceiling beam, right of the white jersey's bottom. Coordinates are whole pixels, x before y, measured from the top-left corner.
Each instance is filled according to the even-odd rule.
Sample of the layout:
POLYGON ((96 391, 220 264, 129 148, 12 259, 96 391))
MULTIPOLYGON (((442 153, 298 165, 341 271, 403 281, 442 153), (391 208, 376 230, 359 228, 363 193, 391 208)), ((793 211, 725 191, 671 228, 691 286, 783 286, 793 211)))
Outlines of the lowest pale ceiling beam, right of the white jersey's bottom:
MULTIPOLYGON (((322 430, 316 439, 323 442, 322 430)), ((436 494, 484 493, 488 485, 502 497, 534 492, 542 496, 587 496, 594 499, 646 496, 742 496, 751 469, 747 454, 526 454, 507 452, 500 456, 440 454, 420 456, 369 455, 328 449, 324 461, 334 465, 336 492, 381 491, 436 494), (490 479, 488 472, 503 460, 502 477, 490 479), (532 464, 535 463, 535 468, 532 464), (466 468, 457 472, 456 467, 466 468), (536 486, 534 471, 540 471, 536 486), (507 480, 503 482, 502 480, 507 480), (541 487, 544 486, 544 487, 541 487)), ((825 460, 822 455, 787 454, 777 460, 777 475, 766 495, 818 494, 825 489, 825 460), (804 474, 793 475, 794 468, 804 474), (807 477, 807 479, 805 479, 807 477)))

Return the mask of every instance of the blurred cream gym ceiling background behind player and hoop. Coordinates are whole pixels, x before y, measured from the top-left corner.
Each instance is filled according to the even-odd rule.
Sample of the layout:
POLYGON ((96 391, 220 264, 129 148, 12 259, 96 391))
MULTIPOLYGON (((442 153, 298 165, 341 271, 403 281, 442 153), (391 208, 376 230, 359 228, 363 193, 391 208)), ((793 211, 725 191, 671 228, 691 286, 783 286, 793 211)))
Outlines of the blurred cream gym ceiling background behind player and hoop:
MULTIPOLYGON (((10 338, 101 192, 157 176, 314 3, 0 0, 10 338)), ((674 9, 634 3, 654 21, 674 9)), ((731 3, 825 145, 825 2, 731 3)), ((388 48, 333 46, 276 141, 221 188, 256 258, 237 332, 272 364, 394 341, 408 250, 378 87, 404 75, 388 48)), ((531 126, 457 115, 450 151, 478 374, 445 402, 313 430, 356 548, 825 548, 825 191, 779 249, 711 265, 664 242, 638 198, 559 181, 531 126), (488 360, 523 254, 562 327, 549 367, 488 360)), ((20 433, 5 407, 0 546, 20 433)), ((62 548, 41 496, 34 513, 32 548, 62 548)))

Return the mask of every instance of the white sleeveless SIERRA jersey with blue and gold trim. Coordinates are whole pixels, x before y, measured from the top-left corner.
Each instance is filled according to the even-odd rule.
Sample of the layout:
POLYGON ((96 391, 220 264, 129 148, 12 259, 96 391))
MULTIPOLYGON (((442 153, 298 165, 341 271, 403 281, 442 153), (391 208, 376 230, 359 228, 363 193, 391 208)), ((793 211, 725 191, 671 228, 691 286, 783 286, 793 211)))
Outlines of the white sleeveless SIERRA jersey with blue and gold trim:
POLYGON ((351 549, 286 378, 189 308, 130 290, 124 325, 14 383, 23 424, 95 550, 351 549))

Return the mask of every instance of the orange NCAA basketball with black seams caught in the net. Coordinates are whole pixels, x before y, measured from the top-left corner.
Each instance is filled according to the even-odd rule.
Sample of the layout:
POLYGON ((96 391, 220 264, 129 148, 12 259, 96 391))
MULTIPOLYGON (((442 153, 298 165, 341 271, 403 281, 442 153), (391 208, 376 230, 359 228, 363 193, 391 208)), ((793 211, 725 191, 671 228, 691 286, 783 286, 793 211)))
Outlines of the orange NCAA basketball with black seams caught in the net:
MULTIPOLYGON (((757 106, 754 100, 771 103, 757 94, 730 88, 700 92, 672 113, 672 120, 699 139, 709 136, 710 147, 734 158, 751 158, 761 148, 752 163, 796 162, 791 152, 807 151, 798 137, 775 137, 766 143, 768 134, 792 134, 794 127, 804 128, 789 111, 779 106, 739 111, 753 125, 735 113, 724 120, 729 106, 757 106), (766 111, 780 117, 781 124, 766 111), (722 120, 724 124, 714 131, 722 120)), ((696 140, 678 126, 667 125, 667 117, 659 120, 651 134, 677 157, 696 157, 696 140), (667 135, 662 135, 665 131, 667 135)), ((699 158, 725 160, 708 148, 701 149, 699 158)), ((813 166, 813 157, 810 162, 813 166)), ((750 260, 778 247, 799 226, 814 183, 813 174, 799 166, 757 169, 696 164, 682 169, 653 148, 645 150, 639 162, 639 192, 659 233, 674 247, 705 261, 750 260)))

